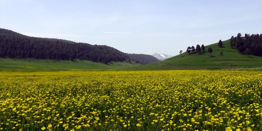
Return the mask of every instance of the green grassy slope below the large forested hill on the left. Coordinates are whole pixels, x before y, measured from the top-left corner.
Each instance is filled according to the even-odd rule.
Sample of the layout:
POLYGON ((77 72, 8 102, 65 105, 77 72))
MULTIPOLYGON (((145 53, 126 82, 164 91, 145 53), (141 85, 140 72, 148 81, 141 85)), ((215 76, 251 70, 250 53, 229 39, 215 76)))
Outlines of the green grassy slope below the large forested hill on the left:
MULTIPOLYGON (((135 64, 134 66, 138 66, 135 64)), ((133 64, 113 62, 108 65, 87 60, 37 60, 37 59, 3 59, 0 58, 0 71, 68 71, 68 70, 106 70, 127 69, 133 64)))

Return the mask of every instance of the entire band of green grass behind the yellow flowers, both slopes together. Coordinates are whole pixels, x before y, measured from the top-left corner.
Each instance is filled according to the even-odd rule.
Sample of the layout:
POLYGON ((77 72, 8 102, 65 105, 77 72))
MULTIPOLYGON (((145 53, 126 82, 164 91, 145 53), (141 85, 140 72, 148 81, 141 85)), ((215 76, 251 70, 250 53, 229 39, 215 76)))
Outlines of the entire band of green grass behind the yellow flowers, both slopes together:
POLYGON ((152 69, 227 69, 227 68, 255 68, 262 66, 262 57, 239 53, 230 47, 230 40, 223 41, 223 47, 217 43, 205 46, 205 52, 194 52, 147 65, 126 62, 112 62, 108 65, 87 60, 37 60, 37 59, 3 59, 0 58, 0 71, 68 71, 68 70, 152 70, 152 69), (213 52, 207 52, 211 47, 213 52), (223 50, 223 55, 220 55, 223 50))

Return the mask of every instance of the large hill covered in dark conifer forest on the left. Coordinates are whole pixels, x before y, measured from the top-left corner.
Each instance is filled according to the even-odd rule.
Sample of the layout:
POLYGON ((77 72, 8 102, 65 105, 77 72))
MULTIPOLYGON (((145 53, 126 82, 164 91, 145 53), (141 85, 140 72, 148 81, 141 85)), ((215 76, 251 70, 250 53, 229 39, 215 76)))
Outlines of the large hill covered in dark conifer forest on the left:
POLYGON ((76 43, 69 40, 37 38, 0 28, 0 57, 56 60, 137 61, 128 54, 105 45, 76 43))

